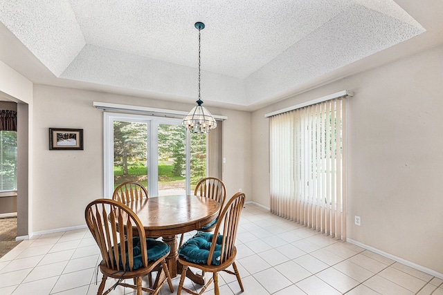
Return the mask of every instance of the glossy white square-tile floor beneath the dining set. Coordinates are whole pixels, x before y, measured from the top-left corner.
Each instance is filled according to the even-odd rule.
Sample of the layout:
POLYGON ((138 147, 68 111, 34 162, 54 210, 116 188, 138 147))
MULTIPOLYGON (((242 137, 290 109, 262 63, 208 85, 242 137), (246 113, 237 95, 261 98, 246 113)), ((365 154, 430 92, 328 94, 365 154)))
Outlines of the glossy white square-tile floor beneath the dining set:
MULTIPOLYGON (((443 294, 439 278, 325 237, 253 204, 246 204, 242 212, 237 252, 245 291, 240 292, 235 276, 221 274, 221 294, 443 294)), ((96 294, 99 253, 86 229, 24 240, 0 259, 0 294, 96 294)), ((179 278, 173 279, 174 294, 179 278)), ((186 285, 201 288, 188 279, 186 285)), ((213 292, 211 285, 205 294, 213 292)), ((111 294, 135 293, 118 286, 111 294)), ((161 294, 170 294, 167 284, 161 294)))

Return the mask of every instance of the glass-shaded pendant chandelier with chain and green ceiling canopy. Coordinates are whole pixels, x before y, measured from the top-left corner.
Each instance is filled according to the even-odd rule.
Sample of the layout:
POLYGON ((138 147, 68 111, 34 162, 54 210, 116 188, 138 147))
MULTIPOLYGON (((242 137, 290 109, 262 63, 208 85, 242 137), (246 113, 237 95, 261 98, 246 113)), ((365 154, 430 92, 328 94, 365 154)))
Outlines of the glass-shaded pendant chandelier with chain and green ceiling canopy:
POLYGON ((189 129, 191 133, 209 133, 211 129, 217 127, 217 122, 213 115, 202 106, 203 101, 200 96, 200 81, 201 81, 201 38, 200 31, 205 28, 205 24, 197 21, 195 23, 195 28, 199 30, 199 99, 197 100, 197 106, 192 108, 192 110, 183 118, 181 124, 189 129))

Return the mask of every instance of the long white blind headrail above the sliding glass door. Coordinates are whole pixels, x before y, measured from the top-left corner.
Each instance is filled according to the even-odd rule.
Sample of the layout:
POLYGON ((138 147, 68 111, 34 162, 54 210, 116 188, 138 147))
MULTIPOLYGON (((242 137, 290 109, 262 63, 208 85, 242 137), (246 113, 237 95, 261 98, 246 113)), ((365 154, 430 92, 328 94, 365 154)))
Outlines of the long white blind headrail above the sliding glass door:
MULTIPOLYGON (((134 113, 145 113, 152 115, 170 115, 174 117, 184 117, 188 115, 186 111, 168 110, 167 108, 150 108, 147 106, 132 106, 129 104, 111 104, 108 102, 93 102, 93 106, 102 110, 109 111, 129 111, 134 113)), ((226 120, 228 117, 222 115, 213 115, 217 120, 226 120)))

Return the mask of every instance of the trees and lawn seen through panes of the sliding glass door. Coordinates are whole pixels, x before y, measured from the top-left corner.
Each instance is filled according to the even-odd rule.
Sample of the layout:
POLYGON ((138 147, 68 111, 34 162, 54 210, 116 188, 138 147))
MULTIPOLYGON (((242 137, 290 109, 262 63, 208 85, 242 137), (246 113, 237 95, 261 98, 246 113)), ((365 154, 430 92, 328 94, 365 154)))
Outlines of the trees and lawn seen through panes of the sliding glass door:
MULTIPOLYGON (((147 124, 114 121, 114 188, 126 181, 138 181, 148 187, 147 124)), ((206 177, 206 135, 191 134, 191 192, 206 177)), ((159 124, 158 127, 159 196, 186 193, 186 129, 159 124)))

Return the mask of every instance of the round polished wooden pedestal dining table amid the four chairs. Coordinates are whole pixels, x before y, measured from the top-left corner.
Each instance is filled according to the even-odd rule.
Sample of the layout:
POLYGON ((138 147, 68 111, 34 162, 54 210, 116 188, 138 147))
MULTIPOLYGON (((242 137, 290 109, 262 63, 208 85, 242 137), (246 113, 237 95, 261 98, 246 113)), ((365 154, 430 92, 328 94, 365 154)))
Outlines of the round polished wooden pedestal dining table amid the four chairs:
MULTIPOLYGON (((171 247, 166 263, 172 278, 178 274, 177 234, 197 230, 217 218, 220 205, 216 200, 201 196, 177 195, 145 198, 129 202, 127 206, 140 218, 146 237, 163 238, 171 247)), ((187 274, 195 283, 204 278, 187 274)))

